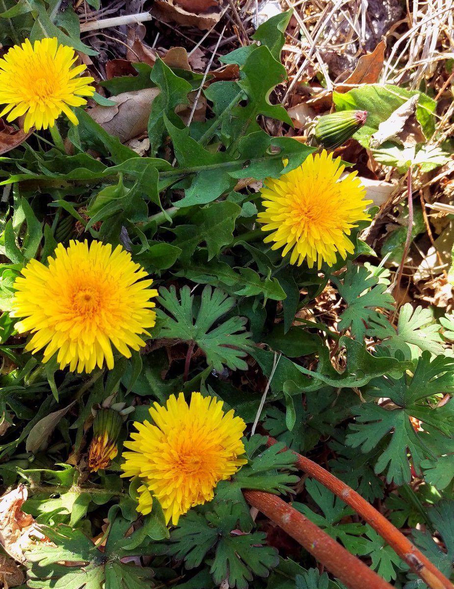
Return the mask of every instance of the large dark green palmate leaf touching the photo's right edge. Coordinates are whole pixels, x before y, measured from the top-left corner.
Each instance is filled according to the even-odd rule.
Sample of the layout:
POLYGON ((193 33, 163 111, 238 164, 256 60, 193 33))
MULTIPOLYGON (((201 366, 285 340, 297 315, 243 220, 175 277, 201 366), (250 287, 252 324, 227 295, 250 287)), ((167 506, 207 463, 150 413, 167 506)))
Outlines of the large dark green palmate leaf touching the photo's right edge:
POLYGON ((375 472, 386 471, 387 481, 394 481, 397 485, 409 482, 411 474, 407 454, 410 454, 412 464, 420 474, 423 460, 445 454, 442 436, 450 437, 454 426, 452 401, 432 408, 422 400, 453 390, 454 359, 438 356, 431 360, 430 353, 423 352, 413 376, 403 375, 400 379, 383 376, 370 382, 367 393, 390 398, 397 407, 389 409, 374 403, 363 403, 354 409, 356 423, 350 425, 347 445, 370 452, 379 447, 386 437, 386 447, 377 459, 375 472), (431 426, 431 435, 425 431, 415 432, 410 417, 431 426), (390 432, 393 434, 389 437, 390 432))

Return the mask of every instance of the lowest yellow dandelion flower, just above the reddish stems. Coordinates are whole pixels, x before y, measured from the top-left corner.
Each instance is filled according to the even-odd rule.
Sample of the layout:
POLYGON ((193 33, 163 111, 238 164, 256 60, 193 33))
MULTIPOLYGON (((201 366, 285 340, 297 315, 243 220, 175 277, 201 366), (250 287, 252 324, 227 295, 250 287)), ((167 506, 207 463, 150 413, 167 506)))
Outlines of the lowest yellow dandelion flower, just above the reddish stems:
POLYGON ((190 405, 183 393, 171 395, 167 405, 154 403, 150 415, 155 425, 135 422, 137 433, 123 452, 122 477, 140 477, 137 511, 150 513, 153 496, 165 519, 177 525, 180 515, 195 505, 211 501, 219 481, 228 479, 247 459, 241 442, 246 424, 233 409, 222 411, 222 401, 194 392, 190 405))

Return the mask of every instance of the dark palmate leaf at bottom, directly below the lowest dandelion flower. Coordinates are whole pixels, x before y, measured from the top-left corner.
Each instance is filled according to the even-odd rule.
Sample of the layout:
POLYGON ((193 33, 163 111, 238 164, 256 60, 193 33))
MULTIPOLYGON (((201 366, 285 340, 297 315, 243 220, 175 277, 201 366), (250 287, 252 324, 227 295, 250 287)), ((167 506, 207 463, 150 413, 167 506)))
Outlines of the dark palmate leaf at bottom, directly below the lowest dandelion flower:
POLYGON ((232 534, 238 530, 243 518, 243 505, 220 501, 210 505, 204 515, 195 510, 180 519, 180 525, 171 533, 170 552, 184 558, 186 568, 201 564, 207 553, 215 550, 210 573, 219 585, 228 578, 229 587, 247 589, 254 575, 266 577, 271 568, 279 564, 275 548, 264 545, 266 535, 250 533, 250 526, 242 526, 246 534, 232 534))

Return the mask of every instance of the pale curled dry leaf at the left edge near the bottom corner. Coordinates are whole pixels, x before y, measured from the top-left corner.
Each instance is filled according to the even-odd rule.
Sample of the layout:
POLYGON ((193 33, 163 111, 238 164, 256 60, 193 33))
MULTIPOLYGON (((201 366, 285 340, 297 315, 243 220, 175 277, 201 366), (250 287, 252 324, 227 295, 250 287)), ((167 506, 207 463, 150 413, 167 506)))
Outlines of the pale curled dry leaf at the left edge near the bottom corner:
POLYGON ((21 508, 27 498, 24 485, 0 497, 0 544, 14 560, 24 564, 25 551, 34 547, 45 536, 37 522, 21 508))

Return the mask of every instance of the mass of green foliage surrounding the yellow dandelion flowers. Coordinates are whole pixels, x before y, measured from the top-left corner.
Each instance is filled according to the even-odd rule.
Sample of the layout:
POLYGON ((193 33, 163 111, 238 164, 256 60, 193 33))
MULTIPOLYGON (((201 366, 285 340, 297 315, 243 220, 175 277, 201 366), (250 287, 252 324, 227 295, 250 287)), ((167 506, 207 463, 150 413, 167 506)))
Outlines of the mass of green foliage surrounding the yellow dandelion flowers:
MULTIPOLYGON (((99 0, 87 4, 100 8, 99 0)), ((27 485, 24 511, 54 542, 28 552, 31 588, 344 589, 266 518, 251 518, 245 489, 285 495, 381 577, 419 587, 350 507, 319 482, 301 483, 292 451, 326 466, 397 527, 421 524, 411 532, 415 543, 452 573, 454 319, 438 319, 426 303, 396 309, 387 292, 388 267, 403 254, 407 210, 377 241, 383 260, 376 265, 362 261, 375 256, 360 239, 364 222, 350 236, 354 253, 320 271, 291 265, 281 248, 264 243, 257 223, 258 183, 294 170, 314 151, 291 136, 280 104, 290 18, 291 11, 268 19, 254 42, 221 56, 238 74, 228 80, 157 58, 153 66, 123 64, 127 75, 101 82, 108 96, 157 90, 144 121, 142 147, 149 140, 150 150, 143 157, 134 143, 107 133, 89 108, 77 108, 79 125, 57 121, 68 153, 39 130, 0 158, 0 484, 1 491, 27 485), (182 111, 196 94, 206 114, 187 121, 182 111), (160 293, 146 346, 131 358, 115 352, 114 369, 91 375, 26 352, 29 335, 17 333, 18 319, 9 315, 25 264, 47 264, 57 244, 71 239, 121 244, 160 293), (267 448, 266 435, 246 429, 247 464, 217 482, 213 501, 168 530, 158 501, 151 514, 138 515, 141 483, 119 475, 131 422, 150 420, 151 403, 163 405, 180 391, 221 399, 224 411, 258 421, 253 431, 278 443, 267 448), (118 454, 90 472, 93 414, 110 403, 126 408, 118 454)), ((97 67, 71 2, 0 0, 5 50, 54 35, 93 55, 97 67)), ((395 167, 396 177, 409 166, 414 173, 435 169, 450 149, 449 140, 433 148, 392 135, 376 144, 380 125, 393 127, 396 110, 412 97, 416 127, 432 137, 436 104, 423 92, 363 84, 333 93, 338 111, 369 111, 354 137, 375 161, 395 167)), ((112 107, 100 94, 94 100, 112 107)), ((369 209, 372 216, 376 210, 369 209)), ((426 231, 420 207, 413 221, 415 240, 426 231)), ((49 300, 48 312, 53 308, 49 300)))

